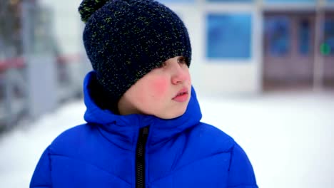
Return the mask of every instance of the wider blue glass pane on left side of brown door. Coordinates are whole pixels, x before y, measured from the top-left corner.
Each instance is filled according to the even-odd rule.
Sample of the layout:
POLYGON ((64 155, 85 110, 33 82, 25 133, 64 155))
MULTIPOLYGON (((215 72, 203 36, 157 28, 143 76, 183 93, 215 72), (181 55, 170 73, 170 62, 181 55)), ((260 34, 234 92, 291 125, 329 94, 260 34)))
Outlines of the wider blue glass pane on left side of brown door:
POLYGON ((274 16, 265 19, 265 38, 270 56, 285 56, 290 51, 290 19, 288 16, 274 16))

